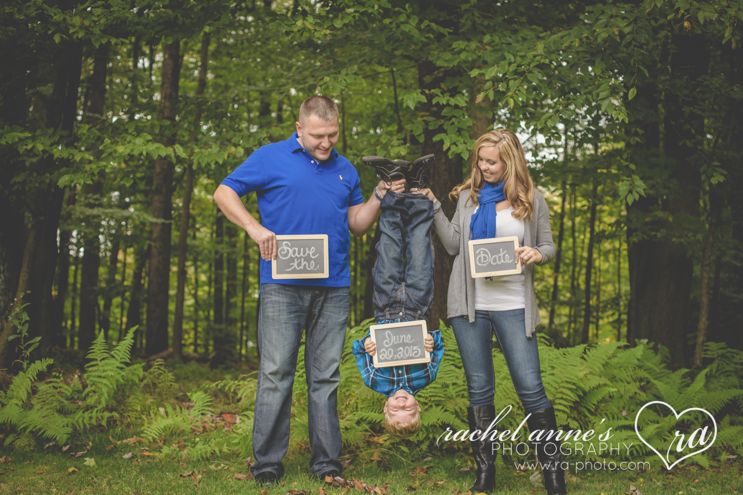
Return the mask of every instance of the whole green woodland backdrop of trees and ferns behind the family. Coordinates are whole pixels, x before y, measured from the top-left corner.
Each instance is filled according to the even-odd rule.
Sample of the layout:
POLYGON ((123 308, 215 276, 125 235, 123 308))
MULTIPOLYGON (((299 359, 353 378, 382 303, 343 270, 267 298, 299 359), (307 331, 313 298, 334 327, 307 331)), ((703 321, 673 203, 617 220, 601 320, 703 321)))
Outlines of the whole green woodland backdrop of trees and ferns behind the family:
MULTIPOLYGON (((377 179, 363 155, 434 153, 431 187, 449 216, 447 193, 469 172, 474 139, 493 126, 516 131, 558 248, 535 288, 559 424, 585 430, 606 418, 635 442, 629 459, 657 464, 638 445, 635 411, 652 399, 707 407, 716 445, 684 466, 735 462, 739 478, 742 19, 743 2, 722 0, 4 2, 2 445, 28 462, 54 450, 65 476, 88 452, 110 466, 122 457, 244 465, 259 253, 211 194, 250 152, 287 139, 299 104, 321 93, 339 105, 337 149, 357 165, 365 198, 377 179), (137 442, 149 452, 132 457, 137 442)), ((259 218, 255 195, 244 200, 259 218)), ((378 236, 374 226, 351 237, 344 468, 364 459, 401 473, 404 489, 406 462, 418 456, 425 470, 444 427, 466 427, 467 392, 446 328, 452 258, 434 236, 430 324, 441 320, 447 353, 419 396, 429 404, 421 432, 403 442, 383 434, 380 399, 350 354, 372 315, 378 236)), ((513 405, 516 417, 493 348, 496 406, 513 405)), ((300 366, 297 466, 308 456, 306 407, 300 366)), ((652 414, 643 435, 665 451, 675 418, 652 414)), ((459 457, 445 458, 442 476, 464 487, 467 446, 447 449, 459 457)), ((34 469, 28 479, 43 484, 34 469)), ((161 473, 149 476, 159 488, 161 473)))

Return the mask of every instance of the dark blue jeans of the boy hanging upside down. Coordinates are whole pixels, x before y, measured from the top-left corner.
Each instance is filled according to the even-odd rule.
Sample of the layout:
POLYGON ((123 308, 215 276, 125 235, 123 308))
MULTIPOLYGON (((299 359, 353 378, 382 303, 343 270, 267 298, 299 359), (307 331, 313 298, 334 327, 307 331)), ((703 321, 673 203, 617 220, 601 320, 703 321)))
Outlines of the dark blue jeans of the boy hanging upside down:
POLYGON ((424 194, 387 191, 382 198, 382 236, 371 272, 377 321, 426 319, 433 300, 432 223, 433 202, 424 194))

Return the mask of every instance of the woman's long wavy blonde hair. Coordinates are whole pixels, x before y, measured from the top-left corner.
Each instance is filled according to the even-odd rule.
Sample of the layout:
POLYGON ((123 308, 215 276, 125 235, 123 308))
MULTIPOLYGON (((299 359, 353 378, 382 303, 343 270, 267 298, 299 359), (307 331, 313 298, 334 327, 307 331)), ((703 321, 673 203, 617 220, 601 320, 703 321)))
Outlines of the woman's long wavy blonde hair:
POLYGON ((519 142, 516 134, 508 129, 494 129, 478 137, 475 142, 475 152, 470 159, 470 177, 464 183, 456 186, 449 193, 449 197, 456 201, 465 189, 470 189, 470 197, 475 206, 479 204, 478 195, 485 186, 485 177, 477 165, 480 148, 498 146, 501 161, 504 165, 502 180, 505 181, 503 192, 507 200, 513 206, 513 217, 523 220, 526 216, 531 217, 533 208, 531 199, 534 192, 534 183, 531 181, 529 169, 526 166, 524 148, 519 142))

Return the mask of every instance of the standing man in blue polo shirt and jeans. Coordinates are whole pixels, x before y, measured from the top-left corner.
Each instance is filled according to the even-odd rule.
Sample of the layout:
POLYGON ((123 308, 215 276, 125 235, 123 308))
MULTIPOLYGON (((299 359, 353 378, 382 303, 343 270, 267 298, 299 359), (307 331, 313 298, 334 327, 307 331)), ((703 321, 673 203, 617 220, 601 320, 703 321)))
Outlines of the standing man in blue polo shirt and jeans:
POLYGON ((263 485, 284 474, 291 390, 303 331, 310 468, 320 479, 340 474, 336 404, 351 285, 348 231, 364 235, 376 220, 387 189, 404 191, 404 180, 389 185, 380 181, 364 203, 359 175, 335 151, 337 141, 337 106, 325 96, 311 96, 299 108, 296 133, 254 151, 214 193, 221 211, 261 249, 261 364, 253 419, 256 462, 250 471, 263 485), (258 194, 262 224, 240 200, 252 191, 258 194), (328 235, 328 278, 274 280, 270 263, 276 258, 276 235, 301 234, 328 235))

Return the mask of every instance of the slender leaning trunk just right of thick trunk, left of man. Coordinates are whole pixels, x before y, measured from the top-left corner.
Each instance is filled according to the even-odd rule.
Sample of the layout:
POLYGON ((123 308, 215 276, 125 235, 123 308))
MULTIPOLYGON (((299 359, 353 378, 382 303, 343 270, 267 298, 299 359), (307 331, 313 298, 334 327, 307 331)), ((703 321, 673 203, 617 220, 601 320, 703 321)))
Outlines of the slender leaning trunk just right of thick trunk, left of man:
MULTIPOLYGON (((196 87, 196 113, 193 118, 191 142, 196 142, 196 128, 201 122, 201 96, 207 88, 207 65, 209 63, 209 33, 201 38, 201 62, 196 87)), ((194 181, 193 160, 186 164, 183 205, 181 206, 181 229, 178 231, 178 282, 175 291, 175 314, 173 315, 173 354, 181 359, 183 350, 184 298, 186 297, 186 258, 188 256, 188 226, 191 220, 191 195, 194 181)))

